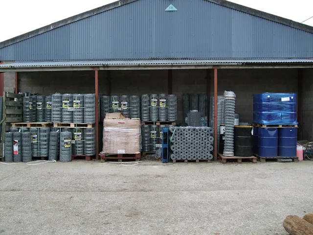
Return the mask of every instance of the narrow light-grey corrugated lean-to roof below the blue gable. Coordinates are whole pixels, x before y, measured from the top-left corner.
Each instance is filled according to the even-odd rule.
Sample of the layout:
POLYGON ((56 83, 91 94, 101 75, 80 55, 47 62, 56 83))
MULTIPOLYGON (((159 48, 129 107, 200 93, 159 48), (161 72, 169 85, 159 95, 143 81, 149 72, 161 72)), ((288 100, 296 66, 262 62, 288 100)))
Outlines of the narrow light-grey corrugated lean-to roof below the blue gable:
POLYGON ((27 67, 81 67, 81 66, 114 66, 114 65, 197 65, 197 64, 273 64, 273 63, 313 63, 313 59, 199 59, 199 60, 95 60, 95 61, 40 61, 14 62, 1 64, 0 68, 27 67))

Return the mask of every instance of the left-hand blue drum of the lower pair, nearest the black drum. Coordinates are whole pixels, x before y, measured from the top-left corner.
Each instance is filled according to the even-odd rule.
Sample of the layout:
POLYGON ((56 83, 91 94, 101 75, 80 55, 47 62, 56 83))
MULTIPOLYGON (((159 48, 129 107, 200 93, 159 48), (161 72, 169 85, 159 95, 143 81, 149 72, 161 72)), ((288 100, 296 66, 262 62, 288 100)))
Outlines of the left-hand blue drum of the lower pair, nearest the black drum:
POLYGON ((259 156, 276 158, 278 153, 277 128, 259 128, 259 156))

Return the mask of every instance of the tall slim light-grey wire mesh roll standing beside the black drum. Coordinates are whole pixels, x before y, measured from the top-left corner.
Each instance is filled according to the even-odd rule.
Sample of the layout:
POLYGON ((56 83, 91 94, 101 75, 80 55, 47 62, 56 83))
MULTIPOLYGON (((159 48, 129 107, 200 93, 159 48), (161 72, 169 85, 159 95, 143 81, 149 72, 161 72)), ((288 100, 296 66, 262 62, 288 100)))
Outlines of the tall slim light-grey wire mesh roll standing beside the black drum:
POLYGON ((225 143, 223 155, 234 156, 234 122, 236 94, 234 92, 224 92, 225 97, 225 143))

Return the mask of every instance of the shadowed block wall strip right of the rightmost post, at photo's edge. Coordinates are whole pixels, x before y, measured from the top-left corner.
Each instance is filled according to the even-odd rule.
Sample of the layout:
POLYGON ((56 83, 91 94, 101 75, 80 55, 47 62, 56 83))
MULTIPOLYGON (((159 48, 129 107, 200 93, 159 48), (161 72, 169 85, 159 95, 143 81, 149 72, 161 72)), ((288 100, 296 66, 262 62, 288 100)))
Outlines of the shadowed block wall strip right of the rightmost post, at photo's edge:
POLYGON ((302 69, 302 140, 313 141, 313 69, 302 69))

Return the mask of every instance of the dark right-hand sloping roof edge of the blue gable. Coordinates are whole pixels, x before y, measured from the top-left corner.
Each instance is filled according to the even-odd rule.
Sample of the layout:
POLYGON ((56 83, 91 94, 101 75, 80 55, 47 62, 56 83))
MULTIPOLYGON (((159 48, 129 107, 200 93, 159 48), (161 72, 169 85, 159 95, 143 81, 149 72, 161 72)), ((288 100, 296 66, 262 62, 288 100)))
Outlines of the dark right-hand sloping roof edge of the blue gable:
POLYGON ((284 18, 284 17, 272 15, 272 14, 269 14, 267 12, 259 11, 259 10, 256 10, 256 9, 253 9, 253 8, 250 8, 247 6, 243 6, 243 5, 231 2, 231 1, 227 1, 227 0, 207 0, 207 1, 219 4, 221 6, 225 6, 225 7, 237 10, 237 11, 241 11, 241 12, 253 15, 253 16, 257 16, 257 17, 260 17, 260 18, 263 18, 263 19, 266 19, 269 21, 273 21, 273 22, 276 22, 279 24, 285 24, 285 25, 290 26, 292 28, 296 28, 296 29, 300 29, 300 30, 303 30, 303 31, 306 31, 309 33, 313 33, 313 26, 310 26, 307 24, 301 24, 301 23, 295 22, 295 21, 291 21, 291 20, 284 18))

